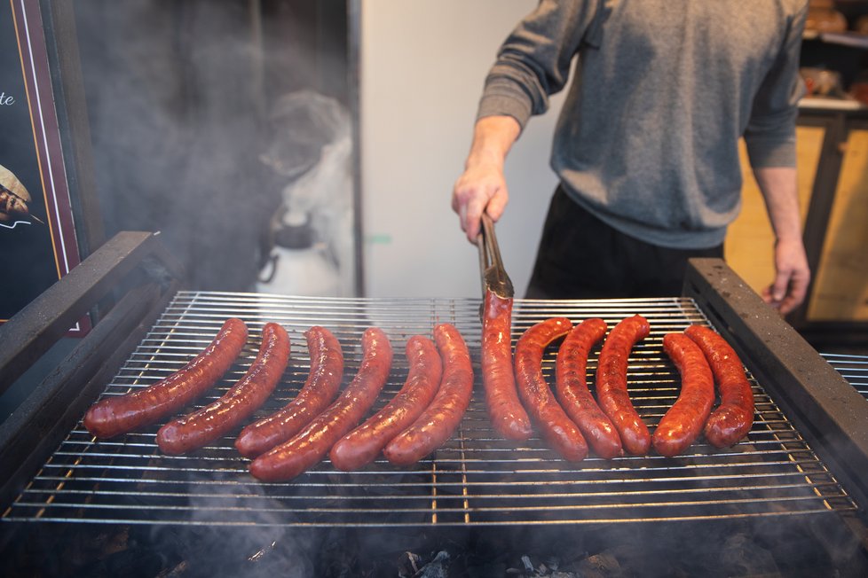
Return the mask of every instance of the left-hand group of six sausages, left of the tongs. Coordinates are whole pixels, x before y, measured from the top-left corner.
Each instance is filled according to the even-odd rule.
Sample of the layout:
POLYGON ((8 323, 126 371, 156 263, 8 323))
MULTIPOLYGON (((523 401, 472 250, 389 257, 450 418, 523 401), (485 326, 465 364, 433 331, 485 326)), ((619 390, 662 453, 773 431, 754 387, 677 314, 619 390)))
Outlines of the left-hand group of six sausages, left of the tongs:
MULTIPOLYGON (((190 363, 150 387, 100 400, 85 414, 84 426, 98 438, 111 438, 176 413, 223 376, 247 338, 241 319, 226 320, 190 363)), ((281 410, 244 426, 235 440, 241 455, 252 459, 250 473, 260 480, 291 480, 326 455, 346 471, 367 465, 381 452, 395 465, 414 464, 452 435, 470 404, 470 353, 451 324, 438 324, 434 341, 420 335, 407 340, 404 386, 360 426, 391 371, 388 336, 376 327, 363 333, 359 369, 340 395, 340 343, 320 326, 305 332, 305 338, 311 370, 302 390, 281 410)), ((241 426, 272 394, 288 357, 286 330, 265 324, 259 353, 244 376, 217 401, 162 426, 159 448, 183 454, 241 426)))

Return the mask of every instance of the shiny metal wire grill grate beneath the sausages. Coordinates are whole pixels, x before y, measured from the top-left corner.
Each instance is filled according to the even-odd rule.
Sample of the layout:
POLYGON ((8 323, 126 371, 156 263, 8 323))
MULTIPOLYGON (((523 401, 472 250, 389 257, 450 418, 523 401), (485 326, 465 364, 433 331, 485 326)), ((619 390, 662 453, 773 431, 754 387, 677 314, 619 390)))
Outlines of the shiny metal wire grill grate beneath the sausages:
MULTIPOLYGON (((327 462, 296 480, 263 484, 225 438, 190 456, 163 456, 154 435, 160 424, 116 440, 95 441, 79 423, 35 479, 4 512, 8 520, 276 526, 467 526, 590 524, 655 520, 809 515, 856 509, 776 403, 752 380, 756 417, 749 439, 718 450, 702 442, 689 455, 588 457, 570 464, 540 439, 515 444, 493 436, 480 391, 479 300, 308 299, 253 293, 178 293, 106 394, 146 387, 198 353, 228 316, 248 322, 241 358, 200 404, 239 379, 256 355, 268 321, 283 324, 292 354, 283 383, 257 417, 289 402, 309 370, 303 333, 326 326, 343 344, 344 385, 359 365, 360 336, 371 325, 395 348, 388 384, 374 410, 406 378, 404 343, 430 335, 434 324, 455 324, 467 340, 476 391, 462 426, 433 456, 411 468, 382 458, 356 473, 327 462)), ((614 326, 641 313, 651 336, 630 358, 630 390, 653 428, 678 394, 679 377, 662 349, 667 332, 707 324, 686 298, 613 301, 517 300, 513 339, 550 316, 600 316, 614 326)), ((588 372, 593 383, 599 346, 588 372)), ((544 360, 553 379, 556 351, 544 360)))

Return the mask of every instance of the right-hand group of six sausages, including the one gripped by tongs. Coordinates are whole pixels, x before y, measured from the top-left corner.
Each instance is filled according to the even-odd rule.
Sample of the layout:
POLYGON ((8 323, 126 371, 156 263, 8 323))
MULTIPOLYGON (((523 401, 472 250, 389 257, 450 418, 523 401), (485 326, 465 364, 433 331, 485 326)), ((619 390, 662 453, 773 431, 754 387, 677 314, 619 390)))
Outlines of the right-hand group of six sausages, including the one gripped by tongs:
POLYGON ((612 328, 598 318, 572 326, 565 317, 533 325, 511 345, 512 300, 485 295, 482 381, 492 425, 503 437, 524 441, 535 424, 549 446, 564 459, 580 461, 588 446, 610 459, 625 452, 661 456, 683 453, 701 434, 717 448, 731 446, 754 423, 754 394, 744 365, 716 332, 691 325, 667 333, 663 348, 681 373, 682 388, 653 435, 635 410, 627 391, 627 362, 632 348, 651 332, 643 316, 631 316, 612 328), (605 337, 605 340, 604 340, 605 337), (564 338, 556 357, 555 392, 542 372, 545 348, 564 338), (586 380, 588 353, 604 340, 596 370, 596 395, 586 380), (714 384, 721 396, 712 412, 714 384))

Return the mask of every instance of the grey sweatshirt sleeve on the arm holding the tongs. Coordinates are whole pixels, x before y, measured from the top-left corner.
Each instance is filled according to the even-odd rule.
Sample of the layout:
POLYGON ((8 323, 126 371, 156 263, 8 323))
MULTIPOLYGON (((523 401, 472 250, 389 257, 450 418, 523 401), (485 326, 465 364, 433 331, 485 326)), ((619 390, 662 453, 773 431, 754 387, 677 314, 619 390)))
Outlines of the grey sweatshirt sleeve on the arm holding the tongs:
POLYGON ((541 0, 498 51, 485 78, 477 119, 509 115, 524 129, 533 114, 548 110, 548 96, 564 88, 602 0, 541 0))

